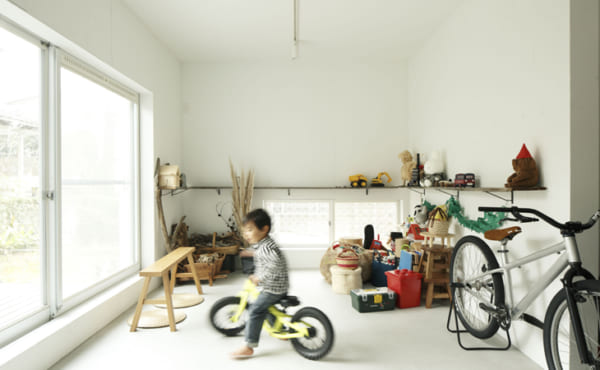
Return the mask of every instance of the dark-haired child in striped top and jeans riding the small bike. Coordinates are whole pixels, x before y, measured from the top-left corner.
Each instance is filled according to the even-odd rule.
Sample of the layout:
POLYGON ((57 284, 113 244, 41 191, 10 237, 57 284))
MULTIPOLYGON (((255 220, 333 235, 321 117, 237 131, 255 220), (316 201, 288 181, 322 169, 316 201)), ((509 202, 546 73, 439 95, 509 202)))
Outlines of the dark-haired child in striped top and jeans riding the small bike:
POLYGON ((289 288, 287 262, 277 244, 269 236, 271 217, 263 209, 255 209, 244 217, 243 236, 250 244, 257 244, 253 252, 255 271, 249 279, 263 287, 252 306, 246 324, 246 345, 233 352, 233 358, 250 357, 258 347, 258 340, 269 306, 287 295, 289 288))

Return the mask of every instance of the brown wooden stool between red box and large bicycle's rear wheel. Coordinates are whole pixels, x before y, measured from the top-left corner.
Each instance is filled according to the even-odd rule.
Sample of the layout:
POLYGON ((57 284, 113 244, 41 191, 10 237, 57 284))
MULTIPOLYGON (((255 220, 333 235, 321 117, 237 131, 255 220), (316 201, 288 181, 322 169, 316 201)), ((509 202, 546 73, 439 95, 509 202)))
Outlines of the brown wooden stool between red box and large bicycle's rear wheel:
POLYGON ((423 282, 427 284, 425 307, 431 308, 434 298, 451 299, 450 293, 450 256, 452 248, 443 248, 440 245, 421 248, 423 256, 419 261, 419 272, 423 274, 423 282), (435 287, 443 287, 443 292, 436 292, 435 287))

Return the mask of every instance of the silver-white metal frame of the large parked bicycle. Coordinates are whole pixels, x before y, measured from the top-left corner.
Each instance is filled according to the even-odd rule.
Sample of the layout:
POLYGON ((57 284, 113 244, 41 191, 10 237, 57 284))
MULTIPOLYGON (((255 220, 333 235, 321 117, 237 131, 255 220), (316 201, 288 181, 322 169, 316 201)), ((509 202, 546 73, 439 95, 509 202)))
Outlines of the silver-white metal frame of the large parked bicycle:
MULTIPOLYGON (((502 255, 501 263, 502 266, 486 271, 485 273, 479 274, 477 276, 472 277, 471 279, 464 281, 465 284, 478 282, 484 277, 490 277, 494 273, 502 273, 505 284, 505 291, 508 291, 508 302, 507 308, 510 314, 510 318, 513 320, 519 320, 522 318, 523 314, 529 308, 531 303, 537 298, 544 289, 549 286, 565 268, 569 263, 579 262, 581 259, 579 257, 579 252, 577 249, 577 243, 575 241, 575 237, 566 236, 564 239, 556 244, 553 244, 549 247, 546 247, 540 251, 532 253, 523 258, 519 258, 513 262, 508 262, 508 249, 507 243, 503 243, 500 247, 499 253, 502 255), (567 253, 562 253, 556 262, 548 269, 545 273, 543 273, 537 282, 529 289, 527 294, 515 305, 513 306, 513 292, 512 292, 512 280, 510 276, 510 270, 526 265, 530 262, 537 261, 541 258, 549 256, 555 253, 561 253, 563 251, 567 251, 567 253)), ((473 293, 471 291, 471 293, 473 293)), ((491 303, 486 303, 487 305, 491 305, 491 303)))

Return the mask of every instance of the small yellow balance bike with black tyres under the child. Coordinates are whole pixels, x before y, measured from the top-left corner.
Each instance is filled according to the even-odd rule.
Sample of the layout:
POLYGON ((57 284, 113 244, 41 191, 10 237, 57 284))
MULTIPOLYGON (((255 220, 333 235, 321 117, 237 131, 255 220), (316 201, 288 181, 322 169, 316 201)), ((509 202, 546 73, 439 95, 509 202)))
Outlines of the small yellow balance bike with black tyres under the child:
MULTIPOLYGON (((238 335, 246 327, 248 308, 260 291, 250 280, 237 296, 224 297, 210 309, 210 321, 215 329, 227 336, 238 335)), ((327 316, 314 307, 303 307, 288 315, 288 307, 300 305, 298 297, 286 296, 269 307, 263 330, 278 339, 289 339, 301 356, 318 360, 333 346, 333 326, 327 316)))

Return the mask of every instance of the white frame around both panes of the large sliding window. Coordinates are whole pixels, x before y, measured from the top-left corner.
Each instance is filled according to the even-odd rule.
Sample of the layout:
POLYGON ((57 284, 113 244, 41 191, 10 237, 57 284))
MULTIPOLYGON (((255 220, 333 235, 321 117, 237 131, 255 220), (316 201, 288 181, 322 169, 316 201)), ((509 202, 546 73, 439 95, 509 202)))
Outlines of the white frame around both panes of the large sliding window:
MULTIPOLYGON (((82 304, 94 295, 115 286, 135 275, 141 268, 141 125, 140 97, 137 88, 129 87, 117 74, 100 71, 91 63, 77 59, 57 46, 30 33, 0 16, 0 28, 40 48, 40 294, 41 307, 33 310, 19 321, 0 328, 0 346, 21 337, 33 329, 51 321, 56 316, 82 304), (108 87, 111 91, 132 101, 132 249, 133 263, 110 276, 97 281, 83 292, 64 301, 60 296, 60 242, 61 242, 61 172, 60 172, 60 68, 67 57, 76 61, 78 67, 92 76, 92 81, 108 87)), ((69 68, 72 70, 72 68, 69 68)), ((79 73, 79 71, 76 71, 79 73)), ((84 76, 88 77, 88 76, 84 76)), ((88 77, 89 78, 89 77, 88 77)))

